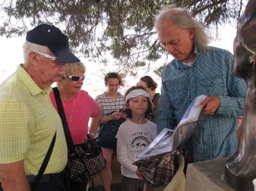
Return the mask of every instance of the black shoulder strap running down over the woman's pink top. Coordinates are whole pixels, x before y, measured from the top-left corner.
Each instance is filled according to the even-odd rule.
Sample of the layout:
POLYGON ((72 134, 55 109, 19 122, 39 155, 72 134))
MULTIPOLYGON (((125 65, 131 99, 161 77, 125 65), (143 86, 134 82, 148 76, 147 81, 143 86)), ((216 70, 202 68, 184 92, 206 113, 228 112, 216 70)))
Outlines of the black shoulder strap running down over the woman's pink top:
POLYGON ((60 95, 59 95, 59 90, 58 90, 57 87, 52 88, 52 90, 53 90, 53 94, 55 96, 55 100, 56 100, 56 104, 57 104, 60 119, 62 119, 62 125, 63 125, 65 138, 66 138, 66 143, 68 144, 69 151, 71 151, 71 153, 76 153, 75 152, 75 147, 74 147, 74 144, 73 144, 73 140, 72 140, 72 137, 70 135, 69 125, 68 125, 68 122, 66 121, 66 116, 65 116, 64 109, 63 109, 63 105, 62 105, 62 100, 61 100, 60 95))

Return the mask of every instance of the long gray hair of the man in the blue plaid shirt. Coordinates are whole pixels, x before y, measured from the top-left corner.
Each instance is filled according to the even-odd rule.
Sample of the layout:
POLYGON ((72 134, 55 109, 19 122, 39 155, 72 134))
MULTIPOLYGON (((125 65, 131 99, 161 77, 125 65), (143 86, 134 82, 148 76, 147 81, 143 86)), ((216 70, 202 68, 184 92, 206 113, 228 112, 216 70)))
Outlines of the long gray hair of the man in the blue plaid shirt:
POLYGON ((194 44, 200 51, 207 51, 208 44, 211 42, 211 37, 205 31, 203 25, 201 25, 192 15, 184 8, 164 8, 160 11, 154 27, 158 31, 163 29, 162 26, 164 20, 170 20, 173 24, 178 26, 180 29, 187 30, 189 28, 194 28, 195 37, 194 44))

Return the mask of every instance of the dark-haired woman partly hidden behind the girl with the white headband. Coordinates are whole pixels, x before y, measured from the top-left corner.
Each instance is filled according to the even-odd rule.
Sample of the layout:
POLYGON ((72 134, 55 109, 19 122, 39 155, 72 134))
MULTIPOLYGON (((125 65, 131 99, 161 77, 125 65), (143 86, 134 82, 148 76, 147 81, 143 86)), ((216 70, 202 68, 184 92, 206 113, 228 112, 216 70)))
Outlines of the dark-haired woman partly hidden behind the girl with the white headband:
POLYGON ((153 111, 152 114, 147 116, 154 124, 158 123, 159 119, 159 104, 160 104, 160 94, 156 93, 157 83, 150 76, 143 76, 139 80, 139 85, 144 87, 150 95, 150 100, 153 103, 153 111))

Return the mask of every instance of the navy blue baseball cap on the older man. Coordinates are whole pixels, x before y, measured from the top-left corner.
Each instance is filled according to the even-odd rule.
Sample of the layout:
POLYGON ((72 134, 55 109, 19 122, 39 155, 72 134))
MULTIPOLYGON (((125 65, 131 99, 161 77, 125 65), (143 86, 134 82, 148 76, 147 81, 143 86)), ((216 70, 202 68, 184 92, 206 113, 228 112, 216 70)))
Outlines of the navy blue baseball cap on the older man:
POLYGON ((47 46, 55 56, 64 63, 80 60, 69 49, 69 39, 57 27, 41 24, 26 34, 26 41, 47 46))

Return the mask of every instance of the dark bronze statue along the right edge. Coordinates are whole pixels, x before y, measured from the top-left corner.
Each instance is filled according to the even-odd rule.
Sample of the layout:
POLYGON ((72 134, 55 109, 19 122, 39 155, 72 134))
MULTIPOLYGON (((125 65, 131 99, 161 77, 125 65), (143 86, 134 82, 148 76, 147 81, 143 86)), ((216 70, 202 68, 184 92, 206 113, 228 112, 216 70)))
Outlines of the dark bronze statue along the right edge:
POLYGON ((228 159, 225 179, 238 190, 253 190, 256 178, 256 0, 238 19, 234 39, 234 74, 246 80, 247 92, 237 152, 228 159))

